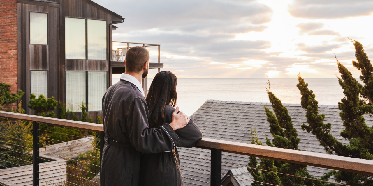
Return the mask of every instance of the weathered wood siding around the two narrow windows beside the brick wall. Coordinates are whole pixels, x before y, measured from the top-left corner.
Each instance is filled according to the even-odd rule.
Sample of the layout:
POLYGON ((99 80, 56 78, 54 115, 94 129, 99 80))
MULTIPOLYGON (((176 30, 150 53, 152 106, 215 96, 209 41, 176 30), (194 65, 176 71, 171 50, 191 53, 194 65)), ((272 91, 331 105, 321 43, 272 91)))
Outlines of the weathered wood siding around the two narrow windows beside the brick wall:
MULTIPOLYGON (((26 107, 30 96, 30 70, 48 70, 48 97, 59 99, 58 73, 59 68, 59 8, 35 4, 18 3, 18 89, 25 94, 22 106, 26 113, 31 113, 26 107), (48 45, 30 44, 30 12, 48 14, 48 45)), ((54 110, 55 112, 57 111, 54 110)))

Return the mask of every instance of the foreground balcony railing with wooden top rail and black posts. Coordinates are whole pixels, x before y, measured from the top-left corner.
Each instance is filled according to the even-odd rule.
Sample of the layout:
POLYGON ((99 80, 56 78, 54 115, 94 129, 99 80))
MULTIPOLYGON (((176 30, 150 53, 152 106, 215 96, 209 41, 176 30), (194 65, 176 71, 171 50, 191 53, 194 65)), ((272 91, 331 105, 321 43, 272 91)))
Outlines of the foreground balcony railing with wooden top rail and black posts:
MULTIPOLYGON (((56 118, 47 118, 43 116, 34 116, 34 115, 25 115, 19 113, 12 113, 12 112, 2 112, 0 111, 0 116, 4 118, 10 119, 17 119, 23 121, 32 121, 33 122, 33 140, 39 141, 38 135, 38 124, 50 124, 56 126, 63 126, 68 128, 74 129, 83 129, 88 131, 96 131, 101 132, 101 139, 103 138, 103 125, 100 124, 91 124, 87 122, 79 122, 79 121, 69 121, 64 119, 56 119, 56 118)), ((34 143, 33 145, 33 167, 32 167, 32 183, 33 185, 38 185, 40 179, 40 164, 38 163, 39 154, 35 152, 39 152, 38 143, 34 143)), ((101 149, 103 148, 104 141, 100 141, 101 149)), ((242 177, 227 175, 222 173, 222 152, 233 153, 233 154, 241 154, 241 155, 249 155, 253 157, 261 157, 267 158, 272 160, 279 160, 285 161, 290 163, 297 163, 303 164, 308 166, 316 166, 316 167, 323 167, 326 169, 334 169, 334 170, 341 170, 341 171, 348 171, 352 173, 358 174, 365 174, 373 176, 373 161, 371 160, 364 160, 364 159, 357 159, 357 158, 350 158, 350 157, 341 157, 331 154, 320 154, 320 153, 312 153, 312 152, 305 152, 305 151, 297 151, 297 150, 289 150, 283 148, 276 148, 276 147, 268 147, 268 146, 261 146, 261 145, 253 145, 253 144, 245 144, 245 143, 238 143, 238 142, 231 142, 231 141, 222 141, 222 140, 213 140, 209 138, 203 138, 196 142, 197 148, 204 148, 210 150, 210 160, 203 159, 210 161, 210 182, 205 182, 206 184, 210 184, 211 186, 219 186, 222 185, 221 176, 231 176, 238 179, 245 179, 242 177)), ((198 157, 192 157, 198 158, 198 157)), ((200 158, 202 159, 202 158, 200 158)), ((229 163, 225 163, 229 164, 229 163)), ((232 164, 235 165, 235 164, 232 164)), ((247 167, 244 165, 235 165, 241 167, 247 167)), ((193 167, 189 167, 191 169, 196 169, 193 167)), ((0 169, 1 171, 1 169, 0 169)), ((263 170, 266 171, 266 170, 263 170)), ((280 174, 280 173, 279 173, 280 174)), ((293 176, 293 175, 290 175, 293 176)), ((299 176, 298 176, 299 177, 299 176)), ((192 179, 188 177, 184 177, 185 179, 192 179)), ((307 179, 307 178, 306 178, 307 179)), ((192 179, 195 180, 195 179, 192 179)), ((251 179, 245 179, 251 180, 251 179)), ((200 181, 200 180, 197 180, 200 181)), ((251 180, 254 181, 254 180, 251 180)), ((261 182, 263 183, 263 182, 261 182)), ((75 184, 77 185, 77 184, 75 184)), ((273 184, 268 184, 273 185, 273 184)), ((343 185, 338 184, 336 185, 343 185)))

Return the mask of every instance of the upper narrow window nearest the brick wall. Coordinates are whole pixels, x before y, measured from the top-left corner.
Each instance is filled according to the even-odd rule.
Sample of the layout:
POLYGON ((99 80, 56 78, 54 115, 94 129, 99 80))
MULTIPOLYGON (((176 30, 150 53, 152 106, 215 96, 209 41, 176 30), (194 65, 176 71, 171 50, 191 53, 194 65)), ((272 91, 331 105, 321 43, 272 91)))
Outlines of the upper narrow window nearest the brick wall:
POLYGON ((48 44, 48 15, 30 12, 30 44, 48 44))

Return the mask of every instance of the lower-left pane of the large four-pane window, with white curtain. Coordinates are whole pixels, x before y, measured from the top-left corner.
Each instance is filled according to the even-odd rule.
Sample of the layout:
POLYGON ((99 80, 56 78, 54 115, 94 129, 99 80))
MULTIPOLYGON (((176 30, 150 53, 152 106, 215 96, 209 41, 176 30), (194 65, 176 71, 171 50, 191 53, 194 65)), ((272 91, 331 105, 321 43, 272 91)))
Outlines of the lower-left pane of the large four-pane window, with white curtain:
POLYGON ((81 112, 85 105, 85 71, 66 71, 66 109, 81 112))

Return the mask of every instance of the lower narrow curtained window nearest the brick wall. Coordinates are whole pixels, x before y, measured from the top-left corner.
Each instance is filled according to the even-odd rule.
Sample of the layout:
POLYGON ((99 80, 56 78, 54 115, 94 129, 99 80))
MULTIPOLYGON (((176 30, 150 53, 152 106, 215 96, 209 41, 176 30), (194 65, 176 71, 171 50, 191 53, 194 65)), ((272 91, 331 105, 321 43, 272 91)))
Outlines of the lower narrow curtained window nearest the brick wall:
POLYGON ((39 95, 48 97, 48 71, 30 71, 30 91, 38 98, 39 95))

